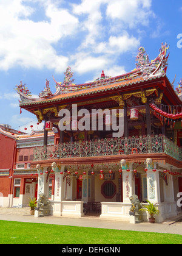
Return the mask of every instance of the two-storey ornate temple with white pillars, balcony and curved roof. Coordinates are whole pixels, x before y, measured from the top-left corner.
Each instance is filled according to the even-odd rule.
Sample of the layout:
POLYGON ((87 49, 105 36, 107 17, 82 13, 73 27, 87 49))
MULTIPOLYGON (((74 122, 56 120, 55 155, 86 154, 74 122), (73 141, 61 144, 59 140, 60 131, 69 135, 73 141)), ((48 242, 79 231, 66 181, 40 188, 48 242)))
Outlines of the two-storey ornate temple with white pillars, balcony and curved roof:
POLYGON ((51 215, 81 217, 86 211, 129 221, 133 194, 143 204, 157 203, 158 222, 181 213, 181 83, 175 89, 167 78, 168 49, 162 43, 150 61, 140 47, 133 71, 116 77, 102 71, 86 84, 74 84, 68 66, 63 82, 53 77, 55 93, 46 80, 39 98, 16 85, 19 106, 44 122, 44 145, 33 146, 30 169, 38 198, 50 199, 51 180, 51 215))

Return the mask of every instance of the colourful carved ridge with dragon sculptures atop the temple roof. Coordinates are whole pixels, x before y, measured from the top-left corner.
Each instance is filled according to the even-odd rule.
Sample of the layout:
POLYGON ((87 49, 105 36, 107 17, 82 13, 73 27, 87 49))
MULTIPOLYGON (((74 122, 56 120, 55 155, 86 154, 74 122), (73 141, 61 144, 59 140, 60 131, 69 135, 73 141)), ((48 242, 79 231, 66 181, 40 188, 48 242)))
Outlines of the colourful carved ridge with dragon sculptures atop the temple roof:
POLYGON ((22 82, 20 85, 16 85, 15 90, 18 91, 22 102, 37 101, 53 98, 55 96, 58 96, 59 94, 74 93, 75 91, 84 90, 87 88, 100 87, 102 85, 107 85, 115 82, 123 82, 140 77, 144 77, 145 79, 147 77, 150 78, 160 76, 161 74, 166 74, 167 59, 169 57, 169 54, 166 56, 167 49, 169 49, 167 43, 161 43, 161 48, 159 50, 160 53, 158 54, 157 58, 149 61, 149 57, 146 54, 145 49, 140 46, 140 48, 138 49, 138 54, 136 55, 136 68, 133 69, 133 71, 116 77, 105 76, 103 71, 100 79, 95 79, 93 82, 89 82, 86 84, 73 84, 73 73, 71 71, 71 67, 68 66, 66 72, 64 73, 65 76, 63 82, 57 82, 53 77, 53 80, 56 84, 56 92, 52 93, 50 91, 49 81, 46 79, 46 87, 43 91, 41 91, 41 93, 39 93, 39 99, 30 96, 28 88, 25 87, 25 85, 22 85, 22 82))

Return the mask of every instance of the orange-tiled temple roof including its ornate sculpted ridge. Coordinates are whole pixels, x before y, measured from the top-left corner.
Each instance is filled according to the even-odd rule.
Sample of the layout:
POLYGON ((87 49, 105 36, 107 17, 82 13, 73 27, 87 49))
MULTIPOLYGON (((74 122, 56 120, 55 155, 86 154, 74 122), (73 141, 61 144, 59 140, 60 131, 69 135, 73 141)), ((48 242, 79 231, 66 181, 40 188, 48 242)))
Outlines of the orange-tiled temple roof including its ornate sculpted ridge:
POLYGON ((66 69, 63 82, 56 82, 56 92, 52 93, 49 87, 49 81, 46 79, 46 87, 39 94, 39 98, 32 98, 26 85, 16 85, 16 91, 18 91, 21 98, 20 106, 25 105, 39 105, 47 102, 61 101, 62 99, 75 98, 87 94, 95 94, 99 91, 115 90, 116 88, 129 87, 130 85, 145 82, 148 80, 156 79, 157 77, 166 76, 167 59, 166 56, 167 43, 161 43, 160 53, 157 58, 149 61, 149 57, 143 47, 138 49, 136 56, 136 68, 130 73, 123 74, 116 77, 105 76, 104 71, 101 77, 86 84, 73 84, 73 73, 70 66, 66 69))

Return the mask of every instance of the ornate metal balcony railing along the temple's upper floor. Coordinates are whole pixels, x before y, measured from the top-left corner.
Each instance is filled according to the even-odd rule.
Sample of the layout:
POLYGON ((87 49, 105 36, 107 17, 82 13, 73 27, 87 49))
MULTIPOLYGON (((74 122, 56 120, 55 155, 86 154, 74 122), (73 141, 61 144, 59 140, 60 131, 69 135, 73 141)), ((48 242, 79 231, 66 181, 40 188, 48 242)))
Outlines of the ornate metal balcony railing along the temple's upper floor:
POLYGON ((166 153, 182 160, 181 149, 164 135, 105 138, 41 146, 34 149, 33 160, 145 153, 166 153))

